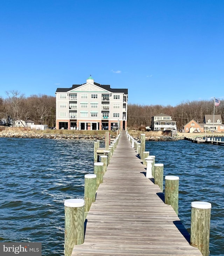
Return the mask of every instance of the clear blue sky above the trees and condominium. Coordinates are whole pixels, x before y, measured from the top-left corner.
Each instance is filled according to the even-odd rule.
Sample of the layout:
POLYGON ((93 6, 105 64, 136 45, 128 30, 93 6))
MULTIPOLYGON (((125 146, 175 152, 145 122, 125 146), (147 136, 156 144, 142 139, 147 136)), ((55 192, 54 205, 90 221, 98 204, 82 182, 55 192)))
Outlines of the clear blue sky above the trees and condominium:
POLYGON ((55 95, 94 81, 128 102, 223 99, 224 1, 7 0, 0 4, 0 96, 55 95))

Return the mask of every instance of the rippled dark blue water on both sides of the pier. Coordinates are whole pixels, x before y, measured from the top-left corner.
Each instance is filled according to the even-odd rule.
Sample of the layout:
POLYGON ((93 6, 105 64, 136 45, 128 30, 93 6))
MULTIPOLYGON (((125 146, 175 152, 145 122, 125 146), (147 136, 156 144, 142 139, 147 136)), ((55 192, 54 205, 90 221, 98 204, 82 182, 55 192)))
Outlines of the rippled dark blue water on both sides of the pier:
MULTIPOLYGON (((64 200, 83 198, 93 173, 93 141, 0 138, 0 241, 42 242, 42 255, 63 255, 64 200)), ((103 146, 103 142, 102 145, 103 146)), ((146 142, 180 177, 179 217, 190 227, 190 203, 212 203, 210 255, 224 256, 224 147, 189 141, 146 142)))

